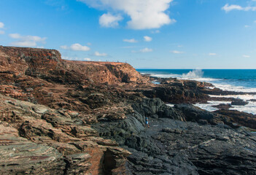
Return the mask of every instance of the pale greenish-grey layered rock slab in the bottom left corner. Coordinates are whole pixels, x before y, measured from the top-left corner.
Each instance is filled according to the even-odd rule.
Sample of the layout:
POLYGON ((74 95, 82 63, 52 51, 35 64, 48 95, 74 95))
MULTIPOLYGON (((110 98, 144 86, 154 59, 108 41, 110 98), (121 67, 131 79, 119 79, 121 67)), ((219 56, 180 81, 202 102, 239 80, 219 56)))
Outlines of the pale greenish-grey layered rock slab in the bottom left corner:
POLYGON ((27 139, 0 135, 0 174, 63 174, 66 163, 57 149, 27 139))

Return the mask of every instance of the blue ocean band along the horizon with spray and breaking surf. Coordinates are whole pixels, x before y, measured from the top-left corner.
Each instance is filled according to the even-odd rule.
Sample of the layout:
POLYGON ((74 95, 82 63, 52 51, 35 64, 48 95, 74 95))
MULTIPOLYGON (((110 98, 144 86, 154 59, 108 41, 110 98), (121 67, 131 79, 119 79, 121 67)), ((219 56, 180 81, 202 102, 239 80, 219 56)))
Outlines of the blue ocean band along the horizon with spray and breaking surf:
POLYGON ((256 69, 137 69, 137 71, 156 77, 212 82, 224 90, 256 92, 256 69))

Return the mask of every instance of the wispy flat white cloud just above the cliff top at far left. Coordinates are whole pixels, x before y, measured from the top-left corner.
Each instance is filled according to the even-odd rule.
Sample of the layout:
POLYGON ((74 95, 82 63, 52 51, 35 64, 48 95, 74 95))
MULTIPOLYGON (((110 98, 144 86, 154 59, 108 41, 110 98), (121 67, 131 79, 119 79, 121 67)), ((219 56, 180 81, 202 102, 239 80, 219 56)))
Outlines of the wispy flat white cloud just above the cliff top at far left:
POLYGON ((12 42, 12 45, 20 46, 20 47, 36 47, 38 43, 45 43, 47 38, 42 38, 39 36, 21 36, 20 34, 9 34, 9 37, 12 39, 18 39, 16 42, 12 42))

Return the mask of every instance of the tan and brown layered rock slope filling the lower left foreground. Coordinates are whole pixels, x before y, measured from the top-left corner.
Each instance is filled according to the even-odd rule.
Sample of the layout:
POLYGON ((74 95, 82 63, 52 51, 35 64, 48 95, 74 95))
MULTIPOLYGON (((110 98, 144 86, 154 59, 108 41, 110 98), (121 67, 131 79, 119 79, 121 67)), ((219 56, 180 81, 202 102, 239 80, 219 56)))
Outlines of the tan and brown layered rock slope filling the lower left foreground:
POLYGON ((125 174, 130 152, 77 122, 76 112, 2 95, 0 106, 1 174, 125 174))

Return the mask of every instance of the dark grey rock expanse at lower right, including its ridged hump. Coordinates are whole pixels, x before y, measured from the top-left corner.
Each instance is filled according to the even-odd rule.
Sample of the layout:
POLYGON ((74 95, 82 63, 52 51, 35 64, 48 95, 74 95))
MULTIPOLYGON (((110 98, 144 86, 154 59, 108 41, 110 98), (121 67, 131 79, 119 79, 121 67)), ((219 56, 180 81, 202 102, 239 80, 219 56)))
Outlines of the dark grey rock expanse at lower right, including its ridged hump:
MULTIPOLYGON (((142 106, 151 106, 148 101, 142 106)), ((145 112, 136 110, 125 120, 93 125, 101 136, 132 153, 127 163, 130 174, 255 174, 256 138, 247 131, 222 123, 174 120, 179 111, 172 117, 157 118, 157 113, 154 106, 147 113, 150 128, 144 126, 145 112)))

